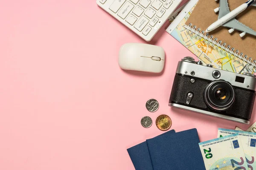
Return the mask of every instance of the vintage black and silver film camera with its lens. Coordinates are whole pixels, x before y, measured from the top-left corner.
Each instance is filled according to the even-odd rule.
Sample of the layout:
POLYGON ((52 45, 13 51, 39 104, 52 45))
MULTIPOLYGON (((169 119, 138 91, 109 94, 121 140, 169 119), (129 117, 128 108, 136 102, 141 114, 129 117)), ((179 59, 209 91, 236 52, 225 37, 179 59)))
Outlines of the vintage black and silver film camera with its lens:
POLYGON ((236 74, 185 57, 177 65, 169 106, 249 124, 255 86, 254 74, 236 74))

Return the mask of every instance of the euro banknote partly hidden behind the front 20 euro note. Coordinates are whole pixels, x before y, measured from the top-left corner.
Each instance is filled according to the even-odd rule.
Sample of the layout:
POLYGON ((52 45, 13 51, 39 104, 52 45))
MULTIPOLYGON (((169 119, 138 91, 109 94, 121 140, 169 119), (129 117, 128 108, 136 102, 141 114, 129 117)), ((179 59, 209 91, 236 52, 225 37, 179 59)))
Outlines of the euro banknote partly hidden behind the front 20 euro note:
POLYGON ((218 129, 218 137, 236 133, 239 134, 249 170, 256 170, 256 160, 254 161, 254 158, 256 158, 256 133, 240 130, 218 129))

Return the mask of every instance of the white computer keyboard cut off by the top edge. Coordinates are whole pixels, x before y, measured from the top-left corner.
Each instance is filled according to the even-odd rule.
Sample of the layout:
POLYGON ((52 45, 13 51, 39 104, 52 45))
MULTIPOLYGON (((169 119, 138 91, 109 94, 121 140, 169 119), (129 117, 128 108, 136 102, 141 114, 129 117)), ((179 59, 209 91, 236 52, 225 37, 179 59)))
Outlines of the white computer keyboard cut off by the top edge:
POLYGON ((182 0, 97 0, 97 4, 150 41, 182 0))

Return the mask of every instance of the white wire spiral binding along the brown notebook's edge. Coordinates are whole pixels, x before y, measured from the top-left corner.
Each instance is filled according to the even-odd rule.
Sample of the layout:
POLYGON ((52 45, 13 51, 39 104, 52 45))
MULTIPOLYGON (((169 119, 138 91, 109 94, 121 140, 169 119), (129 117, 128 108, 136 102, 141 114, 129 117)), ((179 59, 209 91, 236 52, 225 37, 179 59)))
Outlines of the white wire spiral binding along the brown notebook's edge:
POLYGON ((210 36, 209 37, 209 34, 207 33, 207 34, 204 34, 205 33, 205 31, 203 30, 203 31, 201 31, 201 29, 200 28, 196 28, 196 26, 193 26, 192 27, 192 24, 190 23, 189 24, 189 26, 186 26, 186 25, 184 25, 184 27, 187 29, 187 32, 189 33, 189 31, 190 31, 190 35, 192 35, 192 34, 195 34, 195 38, 197 38, 198 36, 199 36, 199 38, 198 39, 201 39, 201 38, 203 38, 204 40, 203 40, 203 42, 204 43, 206 43, 206 41, 208 41, 207 42, 207 45, 210 45, 210 43, 212 43, 212 48, 214 49, 215 48, 215 46, 216 46, 216 49, 218 49, 218 48, 221 48, 221 50, 220 50, 220 52, 225 52, 224 54, 226 55, 227 53, 229 53, 228 54, 228 57, 230 57, 230 59, 232 59, 233 61, 235 61, 236 59, 237 59, 237 61, 238 62, 240 62, 241 60, 242 60, 242 65, 244 65, 244 63, 246 62, 246 65, 244 66, 244 68, 245 67, 248 67, 249 65, 250 65, 250 67, 249 67, 249 69, 252 69, 252 68, 254 68, 255 66, 256 66, 256 60, 253 60, 252 61, 252 58, 248 58, 248 56, 247 55, 244 55, 242 52, 239 54, 239 51, 238 50, 236 50, 235 51, 235 48, 231 48, 230 47, 230 45, 227 45, 225 42, 224 43, 222 43, 222 41, 221 40, 219 40, 218 41, 218 38, 214 38, 213 39, 213 36, 210 36), (201 32, 200 32, 201 31, 201 32), (213 40, 212 40, 213 39, 213 40), (218 42, 217 42, 218 41, 218 42), (226 47, 226 45, 227 45, 227 47, 226 47), (230 49, 231 48, 231 49, 230 49), (231 58, 233 56, 233 58, 231 58), (248 59, 247 59, 248 58, 248 59))

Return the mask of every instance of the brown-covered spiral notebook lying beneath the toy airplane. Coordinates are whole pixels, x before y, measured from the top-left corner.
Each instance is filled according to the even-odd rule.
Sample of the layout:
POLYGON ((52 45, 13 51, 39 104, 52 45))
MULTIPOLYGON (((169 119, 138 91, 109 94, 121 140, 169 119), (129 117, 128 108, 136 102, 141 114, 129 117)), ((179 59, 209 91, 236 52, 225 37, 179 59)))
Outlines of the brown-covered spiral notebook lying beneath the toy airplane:
MULTIPOLYGON (((247 0, 228 0, 230 11, 245 3, 247 0)), ((199 41, 204 42, 208 49, 215 48, 224 54, 224 58, 215 60, 215 65, 221 63, 233 65, 233 72, 255 72, 256 66, 256 37, 246 34, 241 38, 240 31, 229 34, 229 28, 219 27, 215 31, 205 34, 212 23, 218 20, 218 14, 214 9, 219 7, 215 0, 199 0, 193 12, 185 23, 185 28, 191 36, 195 36, 199 41), (228 59, 223 63, 223 59, 228 59), (230 62, 230 63, 228 63, 230 62), (232 63, 231 63, 232 62, 232 63), (240 68, 239 68, 240 67, 240 68)), ((250 6, 247 10, 239 14, 236 19, 244 25, 256 30, 256 7, 250 6)), ((230 71, 230 70, 228 70, 230 71)))

